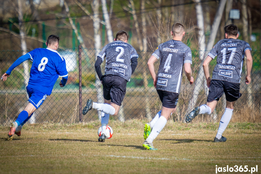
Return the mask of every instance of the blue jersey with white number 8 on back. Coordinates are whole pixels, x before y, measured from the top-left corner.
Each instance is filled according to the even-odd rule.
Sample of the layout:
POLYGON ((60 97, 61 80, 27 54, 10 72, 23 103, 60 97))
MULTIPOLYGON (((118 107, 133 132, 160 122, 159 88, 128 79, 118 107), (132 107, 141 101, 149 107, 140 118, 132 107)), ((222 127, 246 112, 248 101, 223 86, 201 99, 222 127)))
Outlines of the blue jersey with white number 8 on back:
POLYGON ((36 48, 27 54, 33 61, 28 87, 50 95, 57 78, 68 76, 64 57, 50 48, 36 48))

